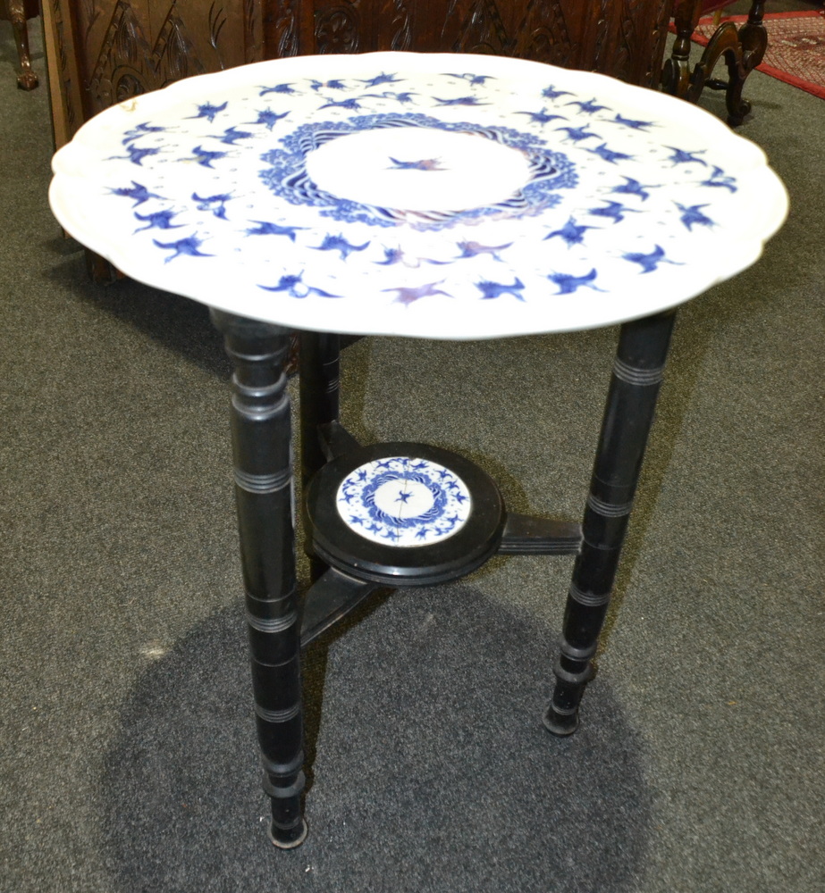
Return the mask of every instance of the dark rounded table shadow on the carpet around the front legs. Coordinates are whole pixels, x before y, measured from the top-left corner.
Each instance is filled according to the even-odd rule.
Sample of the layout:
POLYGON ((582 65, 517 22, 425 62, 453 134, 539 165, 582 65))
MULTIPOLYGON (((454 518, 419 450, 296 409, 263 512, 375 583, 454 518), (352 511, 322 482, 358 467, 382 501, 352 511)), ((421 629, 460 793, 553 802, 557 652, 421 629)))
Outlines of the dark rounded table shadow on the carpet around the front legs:
POLYGON ((323 700, 310 836, 282 852, 240 610, 211 617, 126 699, 100 822, 116 889, 629 889, 651 821, 643 747, 605 680, 576 736, 543 730, 556 638, 453 586, 396 593, 328 655, 307 650, 310 712, 323 700))

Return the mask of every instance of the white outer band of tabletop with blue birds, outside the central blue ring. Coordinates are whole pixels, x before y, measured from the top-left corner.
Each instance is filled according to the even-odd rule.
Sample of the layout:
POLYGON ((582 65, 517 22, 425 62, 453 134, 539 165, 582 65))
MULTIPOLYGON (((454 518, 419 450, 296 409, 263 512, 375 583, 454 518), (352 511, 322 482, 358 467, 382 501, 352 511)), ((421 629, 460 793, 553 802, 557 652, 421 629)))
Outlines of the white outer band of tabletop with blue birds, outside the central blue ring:
MULTIPOLYGON (((422 177, 429 161, 420 162, 422 177)), ((695 106, 589 72, 469 54, 292 57, 186 79, 88 121, 55 155, 54 170, 50 200, 63 227, 148 285, 295 328, 425 338, 586 329, 678 305, 753 263, 787 213, 787 195, 762 150, 695 106), (473 84, 464 72, 486 83, 473 84), (381 77, 396 80, 357 86, 358 78, 381 77), (299 79, 302 106, 298 97, 276 105, 251 96, 299 79), (349 79, 349 98, 323 79, 349 79), (313 80, 321 86, 307 88, 313 80), (417 106, 389 107, 391 95, 401 95, 400 80, 419 88, 417 106), (574 99, 543 97, 548 85, 574 99), (378 98, 362 98, 363 89, 375 89, 378 98), (246 105, 243 94, 251 96, 246 105), (182 113, 210 97, 215 107, 238 102, 235 118, 230 105, 211 122, 182 113), (348 102, 359 107, 344 108, 348 102), (265 103, 282 119, 268 131, 253 120, 265 103), (429 241, 403 227, 385 227, 377 238, 365 223, 330 220, 314 208, 285 211, 274 199, 266 205, 271 213, 262 212, 266 190, 244 178, 265 168, 263 152, 247 149, 235 134, 249 132, 250 143, 271 151, 310 121, 347 127, 358 115, 396 111, 541 139, 547 151, 570 158, 581 185, 560 189, 557 207, 521 223, 459 221, 429 241), (551 115, 560 120, 540 121, 551 115), (645 121, 653 123, 634 127, 645 121), (139 131, 142 122, 167 132, 139 131), (155 147, 154 157, 135 163, 135 146, 155 147), (689 175, 690 164, 673 160, 677 151, 692 161, 689 175), (241 158, 242 170, 231 173, 225 164, 209 172, 202 164, 207 153, 223 153, 218 167, 241 158), (249 159, 257 159, 255 171, 247 170, 249 159), (165 204, 152 198, 135 208, 115 195, 132 182, 165 204), (164 196, 174 192, 166 184, 178 193, 164 196), (206 199, 221 199, 221 187, 224 201, 210 205, 206 199), (246 214, 239 213, 242 201, 246 214)))

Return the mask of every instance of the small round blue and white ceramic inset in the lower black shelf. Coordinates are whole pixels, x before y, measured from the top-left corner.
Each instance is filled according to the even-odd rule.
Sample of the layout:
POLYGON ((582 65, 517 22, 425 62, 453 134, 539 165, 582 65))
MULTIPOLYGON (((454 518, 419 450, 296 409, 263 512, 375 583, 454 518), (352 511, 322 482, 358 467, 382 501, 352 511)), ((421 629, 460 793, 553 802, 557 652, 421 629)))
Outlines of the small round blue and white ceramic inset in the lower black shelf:
POLYGON ((449 468, 410 456, 360 465, 341 482, 335 504, 359 536, 385 546, 430 546, 467 523, 472 500, 449 468))

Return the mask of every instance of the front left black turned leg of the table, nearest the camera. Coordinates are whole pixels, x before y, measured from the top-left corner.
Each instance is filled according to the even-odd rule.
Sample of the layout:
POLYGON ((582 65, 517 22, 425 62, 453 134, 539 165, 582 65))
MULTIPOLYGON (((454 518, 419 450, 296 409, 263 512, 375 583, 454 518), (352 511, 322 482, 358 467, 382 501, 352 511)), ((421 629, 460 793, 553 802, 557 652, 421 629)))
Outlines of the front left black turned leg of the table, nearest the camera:
POLYGON ((235 365, 232 450, 257 735, 272 800, 270 837, 288 849, 307 835, 290 399, 283 371, 290 337, 280 326, 229 313, 212 311, 212 319, 235 365))

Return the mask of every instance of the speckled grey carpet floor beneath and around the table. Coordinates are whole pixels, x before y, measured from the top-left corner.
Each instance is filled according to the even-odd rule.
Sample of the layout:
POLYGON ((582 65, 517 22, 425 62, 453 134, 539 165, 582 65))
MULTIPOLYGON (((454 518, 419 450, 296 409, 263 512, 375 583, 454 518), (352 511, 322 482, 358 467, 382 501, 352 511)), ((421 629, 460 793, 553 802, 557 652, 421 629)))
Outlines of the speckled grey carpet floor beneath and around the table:
MULTIPOLYGON (((284 854, 219 339, 197 305, 88 283, 46 203, 46 91, 17 91, 13 59, 5 28, 0 889, 825 890, 825 103, 748 82, 741 132, 793 210, 680 313, 580 732, 539 724, 568 559, 390 597, 307 654, 311 834, 284 854)), ((365 339, 346 418, 467 453, 515 510, 576 517, 615 334, 365 339)))

